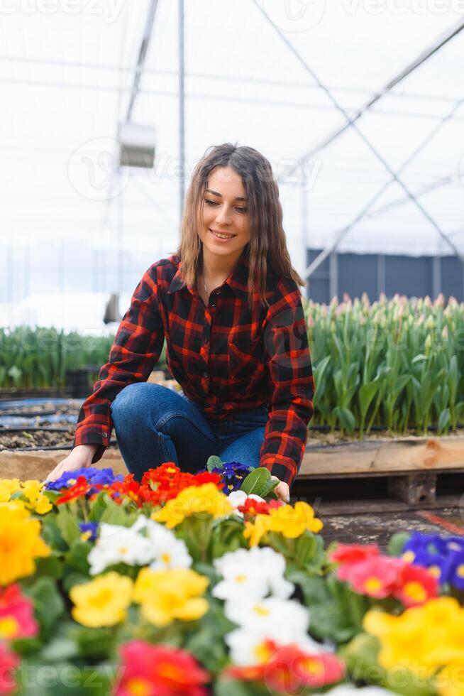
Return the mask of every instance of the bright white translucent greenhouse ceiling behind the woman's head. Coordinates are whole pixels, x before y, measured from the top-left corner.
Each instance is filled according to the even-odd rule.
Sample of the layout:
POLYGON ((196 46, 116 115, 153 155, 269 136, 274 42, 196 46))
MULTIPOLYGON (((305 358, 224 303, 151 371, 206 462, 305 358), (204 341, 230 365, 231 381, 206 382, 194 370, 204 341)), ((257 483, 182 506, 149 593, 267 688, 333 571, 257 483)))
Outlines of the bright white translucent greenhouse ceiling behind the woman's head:
MULTIPOLYGON (((70 12, 50 0, 48 13, 16 5, 0 21, 8 243, 59 241, 64 253, 68 242, 119 244, 146 251, 148 266, 175 249, 179 229, 177 1, 158 1, 132 112, 136 124, 155 127, 155 168, 122 179, 114 160, 98 158, 116 156, 152 1, 82 0, 70 12), (95 161, 89 191, 82 176, 95 161)), ((305 246, 330 245, 370 202, 340 251, 464 255, 464 2, 313 0, 307 13, 286 14, 291 5, 185 0, 187 175, 206 148, 226 141, 267 156, 299 271, 305 246)))

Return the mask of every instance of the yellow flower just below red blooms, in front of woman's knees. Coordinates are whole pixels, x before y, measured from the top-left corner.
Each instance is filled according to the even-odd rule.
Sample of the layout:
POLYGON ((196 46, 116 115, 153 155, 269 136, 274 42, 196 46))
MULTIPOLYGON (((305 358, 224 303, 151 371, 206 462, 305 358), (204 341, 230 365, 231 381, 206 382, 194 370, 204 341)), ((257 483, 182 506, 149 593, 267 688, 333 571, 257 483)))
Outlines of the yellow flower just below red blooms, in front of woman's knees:
POLYGON ((216 518, 231 512, 233 507, 228 497, 210 483, 184 488, 176 498, 167 501, 161 510, 153 512, 151 517, 157 522, 165 522, 172 529, 191 515, 211 515, 216 518))

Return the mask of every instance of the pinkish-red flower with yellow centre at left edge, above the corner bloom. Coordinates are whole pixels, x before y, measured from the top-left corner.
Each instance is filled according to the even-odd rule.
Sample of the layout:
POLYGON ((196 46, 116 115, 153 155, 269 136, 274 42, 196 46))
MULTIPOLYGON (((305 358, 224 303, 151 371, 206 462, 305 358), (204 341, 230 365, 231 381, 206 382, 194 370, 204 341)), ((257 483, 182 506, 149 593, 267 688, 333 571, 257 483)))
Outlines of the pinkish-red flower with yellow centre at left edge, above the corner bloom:
POLYGON ((33 638, 38 634, 32 599, 25 597, 18 584, 0 589, 0 638, 33 638))

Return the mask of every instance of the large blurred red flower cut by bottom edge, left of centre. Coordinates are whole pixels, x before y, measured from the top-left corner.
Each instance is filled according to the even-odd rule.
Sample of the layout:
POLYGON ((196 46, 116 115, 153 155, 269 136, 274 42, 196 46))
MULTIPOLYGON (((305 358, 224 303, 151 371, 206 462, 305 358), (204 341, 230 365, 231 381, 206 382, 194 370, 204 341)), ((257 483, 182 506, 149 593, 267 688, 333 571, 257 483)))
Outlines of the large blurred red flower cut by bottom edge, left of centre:
POLYGON ((191 653, 172 646, 130 641, 120 648, 121 679, 114 696, 206 696, 209 674, 191 653))

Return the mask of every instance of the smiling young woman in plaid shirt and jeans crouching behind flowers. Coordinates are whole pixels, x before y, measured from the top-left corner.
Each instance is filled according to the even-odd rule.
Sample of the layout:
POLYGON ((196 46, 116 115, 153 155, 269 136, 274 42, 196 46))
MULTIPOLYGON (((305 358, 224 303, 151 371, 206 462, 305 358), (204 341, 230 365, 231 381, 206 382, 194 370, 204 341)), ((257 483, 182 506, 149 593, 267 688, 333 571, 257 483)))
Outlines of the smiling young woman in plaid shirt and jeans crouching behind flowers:
POLYGON ((266 467, 289 499, 313 414, 305 284, 270 163, 249 147, 209 148, 189 184, 177 254, 143 275, 73 450, 48 480, 98 462, 114 426, 138 480, 162 462, 194 472, 219 455, 266 467), (183 394, 147 383, 164 339, 183 394))

